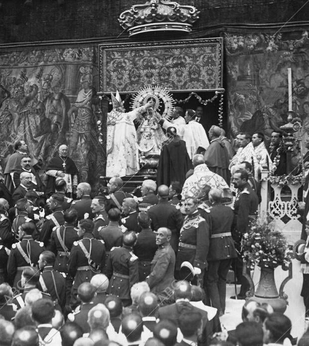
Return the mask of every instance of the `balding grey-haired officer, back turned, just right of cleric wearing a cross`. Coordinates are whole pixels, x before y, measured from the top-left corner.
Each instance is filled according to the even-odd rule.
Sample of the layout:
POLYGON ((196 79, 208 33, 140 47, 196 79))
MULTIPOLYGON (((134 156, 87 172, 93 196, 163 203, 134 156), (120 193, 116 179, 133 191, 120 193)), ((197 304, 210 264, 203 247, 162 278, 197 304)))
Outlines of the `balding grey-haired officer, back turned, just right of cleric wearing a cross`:
POLYGON ((77 219, 81 220, 84 218, 90 218, 93 219, 94 214, 92 213, 91 208, 91 186, 88 184, 88 182, 80 182, 77 185, 76 190, 76 196, 77 200, 73 200, 71 204, 71 208, 74 208, 77 210, 77 219))

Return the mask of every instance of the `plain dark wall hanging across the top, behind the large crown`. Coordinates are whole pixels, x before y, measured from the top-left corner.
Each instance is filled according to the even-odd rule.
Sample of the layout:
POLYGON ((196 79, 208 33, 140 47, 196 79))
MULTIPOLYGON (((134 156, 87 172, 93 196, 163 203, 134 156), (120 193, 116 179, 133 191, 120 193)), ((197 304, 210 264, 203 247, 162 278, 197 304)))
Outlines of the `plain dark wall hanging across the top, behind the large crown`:
MULTIPOLYGON (((146 1, 145 1, 146 2, 146 1)), ((246 27, 251 30, 285 23, 306 0, 178 0, 200 10, 200 19, 190 36, 215 35, 218 31, 246 27)), ((118 23, 119 14, 142 0, 2 0, 0 43, 91 38, 126 39, 118 23), (120 35, 120 36, 119 36, 120 35)), ((299 11, 291 24, 308 24, 308 8, 299 11)), ((290 25, 291 25, 290 24, 290 25)), ((289 26, 284 29, 289 30, 289 26)), ((153 36, 155 39, 155 37, 153 36)), ((183 38, 183 37, 182 37, 183 38)))

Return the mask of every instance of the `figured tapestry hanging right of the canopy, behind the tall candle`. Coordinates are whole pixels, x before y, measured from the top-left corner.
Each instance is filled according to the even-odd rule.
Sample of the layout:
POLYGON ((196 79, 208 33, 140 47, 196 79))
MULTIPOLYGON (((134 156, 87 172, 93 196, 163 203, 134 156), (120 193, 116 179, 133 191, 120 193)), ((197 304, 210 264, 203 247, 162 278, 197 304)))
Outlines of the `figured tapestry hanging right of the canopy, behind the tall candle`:
POLYGON ((303 123, 303 143, 309 138, 308 32, 225 34, 226 83, 230 135, 239 131, 272 131, 287 123, 288 68, 292 69, 294 116, 303 123))

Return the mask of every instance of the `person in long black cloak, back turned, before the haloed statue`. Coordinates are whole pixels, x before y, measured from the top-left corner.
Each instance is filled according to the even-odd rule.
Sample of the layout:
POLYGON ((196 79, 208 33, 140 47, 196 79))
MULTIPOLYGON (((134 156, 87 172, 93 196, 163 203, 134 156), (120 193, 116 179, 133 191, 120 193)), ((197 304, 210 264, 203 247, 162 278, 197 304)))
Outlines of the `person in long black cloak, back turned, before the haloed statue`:
POLYGON ((192 169, 185 142, 177 136, 177 130, 169 127, 166 130, 168 140, 162 144, 159 158, 156 183, 157 186, 169 186, 171 181, 179 181, 181 186, 185 181, 185 174, 192 169))

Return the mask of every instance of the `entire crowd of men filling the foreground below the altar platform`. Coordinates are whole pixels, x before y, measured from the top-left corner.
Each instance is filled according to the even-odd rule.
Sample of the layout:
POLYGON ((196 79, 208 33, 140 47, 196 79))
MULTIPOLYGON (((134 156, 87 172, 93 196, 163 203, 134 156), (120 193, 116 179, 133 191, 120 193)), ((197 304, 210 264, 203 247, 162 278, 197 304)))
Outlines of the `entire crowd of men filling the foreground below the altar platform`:
POLYGON ((114 176, 101 195, 78 183, 66 145, 44 179, 17 141, 0 179, 0 345, 295 345, 267 304, 247 302, 227 335, 219 322, 229 270, 231 298, 250 288, 241 240, 261 171, 285 173, 281 138, 268 152, 262 134, 241 133, 232 147, 213 126, 184 183, 149 178, 132 194, 114 176))

